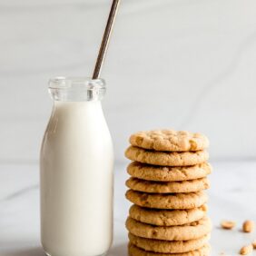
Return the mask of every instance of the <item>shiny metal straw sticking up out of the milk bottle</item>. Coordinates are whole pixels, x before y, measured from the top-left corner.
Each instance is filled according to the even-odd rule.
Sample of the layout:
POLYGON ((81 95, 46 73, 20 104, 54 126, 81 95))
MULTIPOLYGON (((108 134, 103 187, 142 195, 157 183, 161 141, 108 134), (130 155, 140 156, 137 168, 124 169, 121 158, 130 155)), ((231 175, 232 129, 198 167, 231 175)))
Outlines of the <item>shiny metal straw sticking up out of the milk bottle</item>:
POLYGON ((107 20, 107 25, 105 27, 105 31, 103 34, 103 41, 102 41, 101 48, 100 48, 100 51, 99 51, 99 54, 97 57, 97 61, 96 61, 95 67, 94 67, 93 79, 99 78, 99 76, 101 74, 105 54, 106 54, 108 44, 110 41, 110 36, 111 36, 112 30, 113 30, 113 23, 114 23, 115 16, 117 14, 119 3, 120 3, 120 0, 113 0, 113 4, 111 6, 111 11, 110 11, 110 14, 109 14, 108 20, 107 20))

